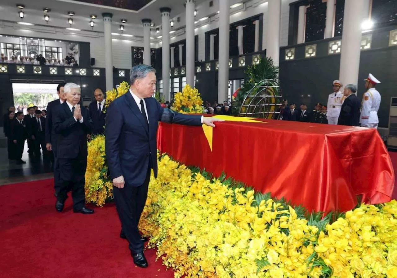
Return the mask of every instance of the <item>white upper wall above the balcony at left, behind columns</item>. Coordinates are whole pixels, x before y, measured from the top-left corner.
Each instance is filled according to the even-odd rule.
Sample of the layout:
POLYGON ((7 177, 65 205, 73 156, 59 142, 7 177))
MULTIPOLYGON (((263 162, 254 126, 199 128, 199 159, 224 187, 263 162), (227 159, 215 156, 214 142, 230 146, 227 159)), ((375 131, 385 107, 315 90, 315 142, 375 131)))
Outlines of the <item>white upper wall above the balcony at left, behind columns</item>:
MULTIPOLYGON (((24 36, 24 37, 33 37, 33 38, 48 38, 52 40, 64 40, 64 41, 72 41, 72 42, 89 42, 90 43, 90 52, 91 58, 95 58, 95 65, 93 67, 105 67, 105 49, 104 49, 104 36, 102 33, 98 32, 74 32, 75 34, 71 34, 71 32, 67 32, 64 29, 57 28, 46 28, 40 30, 29 29, 27 27, 23 27, 21 29, 20 26, 15 26, 17 24, 12 23, 2 23, 0 24, 0 34, 2 35, 12 35, 12 36, 24 36), (26 29, 25 29, 26 28, 26 29)), ((131 68, 131 47, 143 47, 143 39, 135 38, 130 40, 127 37, 123 36, 113 36, 112 39, 112 57, 113 57, 113 66, 119 69, 129 69, 131 68)), ((0 42, 6 42, 5 39, 13 39, 0 37, 0 42)), ((14 43, 19 43, 19 38, 14 39, 14 43)), ((66 43, 58 43, 58 42, 46 42, 46 46, 55 46, 55 44, 59 44, 62 46, 65 51, 63 55, 67 54, 66 43)), ((152 44, 152 47, 156 47, 155 44, 152 44)))

